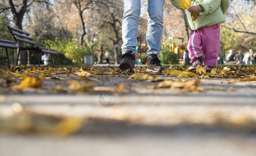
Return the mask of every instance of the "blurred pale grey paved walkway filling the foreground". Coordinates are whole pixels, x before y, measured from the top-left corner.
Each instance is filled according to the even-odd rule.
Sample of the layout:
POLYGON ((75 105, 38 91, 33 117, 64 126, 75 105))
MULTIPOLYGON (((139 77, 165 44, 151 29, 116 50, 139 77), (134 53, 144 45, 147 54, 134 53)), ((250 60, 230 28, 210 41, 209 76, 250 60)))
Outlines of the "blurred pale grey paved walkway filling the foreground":
POLYGON ((90 92, 54 93, 49 86, 60 82, 46 80, 41 90, 1 93, 2 116, 22 106, 34 114, 82 118, 84 124, 67 137, 2 132, 0 155, 256 154, 255 81, 159 77, 199 81, 202 89, 157 88, 159 82, 113 75, 90 77, 95 87, 104 87, 90 92), (122 83, 120 92, 111 92, 122 83))

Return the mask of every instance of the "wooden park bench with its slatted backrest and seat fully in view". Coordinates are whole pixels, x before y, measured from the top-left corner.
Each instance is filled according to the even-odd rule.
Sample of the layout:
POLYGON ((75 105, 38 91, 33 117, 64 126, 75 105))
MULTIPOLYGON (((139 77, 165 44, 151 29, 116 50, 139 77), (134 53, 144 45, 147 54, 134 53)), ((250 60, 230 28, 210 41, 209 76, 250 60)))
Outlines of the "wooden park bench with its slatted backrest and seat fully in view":
MULTIPOLYGON (((17 64, 18 64, 19 60, 22 60, 22 59, 19 59, 20 52, 23 50, 29 50, 29 51, 34 51, 35 58, 36 57, 38 58, 37 61, 38 61, 39 66, 40 66, 39 53, 50 54, 51 59, 48 61, 51 61, 52 66, 53 66, 52 54, 58 54, 57 51, 55 51, 54 49, 50 49, 50 48, 35 46, 35 42, 33 41, 33 38, 30 36, 30 33, 26 32, 26 31, 20 30, 18 28, 10 27, 9 25, 8 25, 8 29, 10 30, 10 33, 14 36, 14 40, 19 45, 18 55, 17 55, 17 59, 16 59, 17 64), (25 43, 29 46, 25 46, 25 43)), ((26 59, 26 60, 29 60, 29 59, 26 59)), ((31 60, 35 61, 36 59, 31 59, 31 60)))

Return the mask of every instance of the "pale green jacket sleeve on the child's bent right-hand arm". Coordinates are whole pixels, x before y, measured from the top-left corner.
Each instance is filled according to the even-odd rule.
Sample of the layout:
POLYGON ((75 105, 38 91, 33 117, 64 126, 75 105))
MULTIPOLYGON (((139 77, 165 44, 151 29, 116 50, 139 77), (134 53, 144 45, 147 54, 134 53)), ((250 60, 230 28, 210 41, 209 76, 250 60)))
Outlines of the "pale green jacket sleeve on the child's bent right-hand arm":
POLYGON ((212 14, 218 7, 220 7, 222 0, 206 0, 203 3, 199 3, 198 6, 203 7, 203 12, 199 12, 201 16, 212 14))

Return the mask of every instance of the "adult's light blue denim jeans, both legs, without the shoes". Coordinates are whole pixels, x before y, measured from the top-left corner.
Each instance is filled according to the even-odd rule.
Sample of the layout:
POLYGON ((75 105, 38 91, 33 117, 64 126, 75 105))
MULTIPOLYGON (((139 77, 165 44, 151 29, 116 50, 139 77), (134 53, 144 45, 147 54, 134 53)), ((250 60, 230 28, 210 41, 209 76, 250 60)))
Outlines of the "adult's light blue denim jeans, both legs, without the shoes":
MULTIPOLYGON (((123 0, 124 17, 122 26, 122 54, 131 50, 136 54, 138 22, 140 17, 140 0, 123 0)), ((146 40, 149 50, 147 56, 161 53, 161 37, 163 33, 163 7, 165 0, 148 0, 148 31, 146 40)))

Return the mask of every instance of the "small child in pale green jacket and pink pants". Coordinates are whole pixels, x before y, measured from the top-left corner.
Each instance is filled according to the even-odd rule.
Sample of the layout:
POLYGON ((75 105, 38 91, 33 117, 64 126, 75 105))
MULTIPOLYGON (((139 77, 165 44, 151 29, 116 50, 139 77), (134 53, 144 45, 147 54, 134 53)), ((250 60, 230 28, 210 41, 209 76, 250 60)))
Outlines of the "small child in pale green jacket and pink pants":
MULTIPOLYGON (((181 9, 178 0, 170 0, 172 4, 181 9)), ((187 45, 188 56, 192 65, 189 70, 197 69, 201 64, 201 56, 206 72, 211 72, 217 65, 220 53, 220 23, 225 22, 224 12, 228 8, 227 0, 194 0, 191 7, 186 10, 186 17, 191 30, 187 45), (198 13, 199 14, 198 14, 198 13), (191 14, 197 14, 196 19, 191 14)))

